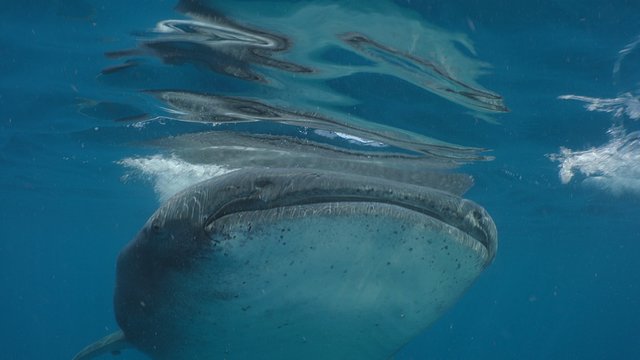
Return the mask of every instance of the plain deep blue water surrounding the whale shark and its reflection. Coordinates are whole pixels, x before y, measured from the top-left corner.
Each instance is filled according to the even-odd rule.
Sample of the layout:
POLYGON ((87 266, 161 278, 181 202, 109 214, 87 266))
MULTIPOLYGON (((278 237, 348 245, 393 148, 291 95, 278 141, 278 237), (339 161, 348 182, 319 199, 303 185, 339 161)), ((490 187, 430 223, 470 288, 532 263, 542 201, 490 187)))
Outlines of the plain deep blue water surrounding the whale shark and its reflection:
MULTIPOLYGON (((220 3, 234 19, 254 25, 269 18, 260 15, 265 8, 287 19, 291 5, 220 3)), ((159 21, 188 18, 172 1, 2 1, 1 357, 69 359, 117 329, 115 259, 159 203, 153 179, 127 177, 132 170, 119 161, 157 151, 140 141, 200 126, 154 125, 167 106, 140 92, 149 89, 324 106, 488 149, 483 154, 493 160, 469 162, 460 171, 475 179, 465 197, 482 204, 498 226, 496 260, 398 359, 640 357, 640 145, 634 135, 640 128, 640 107, 634 107, 640 2, 390 4, 447 36, 463 34, 475 55, 456 43, 451 49, 460 66, 490 66, 480 66, 481 76, 462 69, 460 78, 502 96, 509 112, 460 104, 411 83, 415 73, 290 80, 295 76, 264 70, 287 85, 277 88, 202 64, 163 63, 148 53, 104 55, 159 36, 149 33, 159 21), (136 62, 133 70, 104 71, 127 61, 136 62), (313 88, 326 97, 301 95, 313 88), (357 101, 347 105, 331 94, 357 101), (140 114, 151 115, 116 121, 140 114), (133 126, 137 121, 147 125, 133 126)), ((257 25, 284 32, 267 20, 257 25)), ((354 26, 379 36, 392 30, 381 21, 354 26)), ((309 31, 300 24, 287 29, 292 38, 294 31, 309 31)), ((428 52, 429 40, 420 43, 428 52)), ((301 44, 294 42, 292 57, 304 54, 301 44)), ((339 51, 323 56, 314 65, 342 64, 340 71, 375 61, 339 51)), ((456 61, 434 59, 443 66, 456 61)), ((127 351, 119 358, 145 357, 127 351)))

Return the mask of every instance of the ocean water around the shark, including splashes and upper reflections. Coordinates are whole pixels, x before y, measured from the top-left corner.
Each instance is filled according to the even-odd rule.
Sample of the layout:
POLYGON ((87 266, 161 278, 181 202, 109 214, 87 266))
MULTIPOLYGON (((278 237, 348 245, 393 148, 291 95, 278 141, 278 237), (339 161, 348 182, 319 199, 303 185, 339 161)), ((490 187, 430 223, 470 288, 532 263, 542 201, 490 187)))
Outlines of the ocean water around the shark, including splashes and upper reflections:
POLYGON ((166 139, 384 148, 380 125, 473 176, 500 241, 396 359, 640 358, 640 2, 2 0, 0 20, 0 358, 117 329, 119 251, 224 170, 166 139))

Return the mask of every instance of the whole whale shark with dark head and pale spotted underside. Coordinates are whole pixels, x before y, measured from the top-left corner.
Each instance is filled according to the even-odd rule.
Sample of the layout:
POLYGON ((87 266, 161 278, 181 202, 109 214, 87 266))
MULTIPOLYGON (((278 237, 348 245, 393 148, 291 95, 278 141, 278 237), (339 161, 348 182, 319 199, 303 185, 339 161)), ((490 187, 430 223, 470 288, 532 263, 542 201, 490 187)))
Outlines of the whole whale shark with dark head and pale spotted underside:
POLYGON ((162 205, 121 252, 121 331, 74 359, 388 359, 493 260, 475 203, 309 169, 238 170, 162 205))

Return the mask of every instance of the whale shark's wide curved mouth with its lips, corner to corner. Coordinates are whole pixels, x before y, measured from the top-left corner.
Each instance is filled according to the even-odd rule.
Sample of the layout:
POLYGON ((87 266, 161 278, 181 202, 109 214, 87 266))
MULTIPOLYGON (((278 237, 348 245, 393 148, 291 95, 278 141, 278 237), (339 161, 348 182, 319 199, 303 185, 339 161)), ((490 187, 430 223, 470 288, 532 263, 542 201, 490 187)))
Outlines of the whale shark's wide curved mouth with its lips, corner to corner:
MULTIPOLYGON (((215 231, 218 221, 238 213, 296 208, 299 211, 313 206, 331 206, 333 216, 349 216, 348 207, 371 210, 390 205, 394 212, 410 211, 444 223, 467 234, 487 251, 487 260, 496 251, 496 229, 488 213, 472 201, 428 187, 407 185, 383 179, 344 175, 331 172, 299 172, 293 178, 306 180, 281 183, 282 176, 269 171, 251 181, 253 192, 235 197, 222 204, 204 222, 207 232, 215 231)), ((286 182, 287 180, 285 180, 286 182)), ((285 211, 286 212, 286 211, 285 211)), ((313 213, 313 212, 311 212, 313 213)), ((366 211, 365 211, 366 213, 366 211)))

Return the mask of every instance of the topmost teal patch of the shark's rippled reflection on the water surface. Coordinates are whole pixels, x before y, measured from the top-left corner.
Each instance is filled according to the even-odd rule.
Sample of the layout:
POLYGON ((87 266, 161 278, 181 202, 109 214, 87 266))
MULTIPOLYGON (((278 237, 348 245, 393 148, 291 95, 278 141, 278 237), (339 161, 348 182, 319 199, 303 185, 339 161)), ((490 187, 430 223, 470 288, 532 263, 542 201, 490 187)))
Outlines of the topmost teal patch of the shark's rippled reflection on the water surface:
POLYGON ((103 73, 133 74, 145 65, 140 56, 153 56, 256 82, 281 98, 310 105, 349 105, 350 99, 322 89, 322 83, 379 74, 479 113, 508 111, 500 95, 476 82, 490 66, 469 56, 475 49, 464 34, 426 24, 384 1, 363 5, 231 1, 213 9, 202 1, 180 1, 176 9, 191 19, 160 21, 140 34, 137 49, 108 52, 127 60, 103 73), (278 11, 281 7, 287 10, 278 11), (242 11, 248 8, 256 11, 242 11), (237 12, 242 25, 230 17, 237 12))

